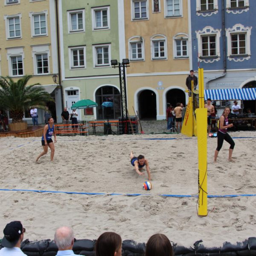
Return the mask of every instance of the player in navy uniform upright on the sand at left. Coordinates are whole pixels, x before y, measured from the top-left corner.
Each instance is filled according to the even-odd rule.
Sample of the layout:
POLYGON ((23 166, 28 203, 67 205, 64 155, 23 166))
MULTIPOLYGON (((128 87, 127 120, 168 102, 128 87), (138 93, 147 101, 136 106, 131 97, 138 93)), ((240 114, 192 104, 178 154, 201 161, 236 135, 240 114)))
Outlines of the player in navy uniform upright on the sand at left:
POLYGON ((44 126, 44 133, 42 136, 42 146, 44 151, 37 157, 37 159, 35 160, 36 162, 39 160, 41 156, 47 154, 48 146, 51 149, 51 161, 53 161, 55 148, 52 141, 52 135, 54 135, 54 142, 57 142, 53 123, 54 123, 54 119, 52 117, 49 117, 48 125, 44 126))

